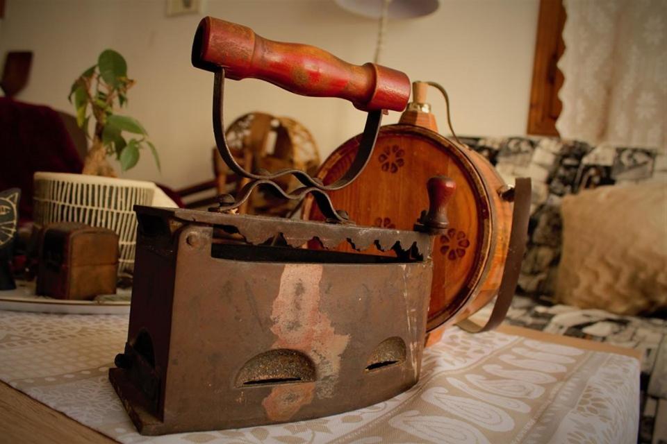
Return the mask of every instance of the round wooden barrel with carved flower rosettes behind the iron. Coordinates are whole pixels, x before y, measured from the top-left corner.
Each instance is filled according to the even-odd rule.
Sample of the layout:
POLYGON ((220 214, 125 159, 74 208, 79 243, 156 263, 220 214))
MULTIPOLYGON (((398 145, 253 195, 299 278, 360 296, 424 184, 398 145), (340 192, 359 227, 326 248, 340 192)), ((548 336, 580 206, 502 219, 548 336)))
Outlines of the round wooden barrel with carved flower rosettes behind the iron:
MULTIPOLYGON (((325 184, 349 167, 360 137, 332 153, 318 171, 325 184)), ((334 207, 357 225, 412 230, 428 207, 425 184, 448 176, 456 193, 447 207, 450 228, 435 239, 428 330, 458 322, 484 307, 498 292, 508 253, 513 203, 493 166, 465 145, 418 125, 383 126, 374 153, 351 185, 329 193, 334 207)), ((304 219, 322 220, 312 199, 304 219)), ((346 250, 344 246, 341 250, 346 250)))

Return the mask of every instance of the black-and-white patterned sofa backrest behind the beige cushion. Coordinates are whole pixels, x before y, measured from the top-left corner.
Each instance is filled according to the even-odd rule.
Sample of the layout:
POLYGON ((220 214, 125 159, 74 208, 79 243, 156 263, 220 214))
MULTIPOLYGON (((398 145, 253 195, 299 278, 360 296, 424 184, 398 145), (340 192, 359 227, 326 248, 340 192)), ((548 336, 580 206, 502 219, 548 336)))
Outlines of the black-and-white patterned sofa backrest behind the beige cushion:
POLYGON ((561 256, 561 198, 579 189, 645 180, 667 181, 667 155, 648 148, 609 145, 550 137, 462 137, 484 155, 502 178, 532 178, 529 241, 518 292, 551 300, 561 256))

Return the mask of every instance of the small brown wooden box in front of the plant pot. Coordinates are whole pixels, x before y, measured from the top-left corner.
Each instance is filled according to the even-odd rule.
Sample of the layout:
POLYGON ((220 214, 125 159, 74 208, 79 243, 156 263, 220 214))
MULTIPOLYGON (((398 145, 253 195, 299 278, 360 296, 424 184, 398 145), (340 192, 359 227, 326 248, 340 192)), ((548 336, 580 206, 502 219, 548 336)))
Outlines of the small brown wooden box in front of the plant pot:
POLYGON ((118 235, 83 223, 44 228, 37 293, 58 299, 90 299, 116 292, 118 235))

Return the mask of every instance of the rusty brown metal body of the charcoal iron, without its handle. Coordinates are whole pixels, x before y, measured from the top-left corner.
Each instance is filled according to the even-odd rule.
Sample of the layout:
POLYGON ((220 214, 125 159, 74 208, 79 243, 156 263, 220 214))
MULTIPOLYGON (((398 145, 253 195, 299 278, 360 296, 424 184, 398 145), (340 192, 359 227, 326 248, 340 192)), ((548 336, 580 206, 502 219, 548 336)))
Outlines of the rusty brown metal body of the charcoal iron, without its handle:
MULTIPOLYGON (((430 260, 253 245, 281 230, 295 244, 304 231, 372 242, 397 230, 137 212, 128 341, 110 380, 142 434, 326 416, 417 382, 430 260), (219 235, 231 226, 248 241, 219 235)), ((404 233, 427 248, 429 235, 404 233)))

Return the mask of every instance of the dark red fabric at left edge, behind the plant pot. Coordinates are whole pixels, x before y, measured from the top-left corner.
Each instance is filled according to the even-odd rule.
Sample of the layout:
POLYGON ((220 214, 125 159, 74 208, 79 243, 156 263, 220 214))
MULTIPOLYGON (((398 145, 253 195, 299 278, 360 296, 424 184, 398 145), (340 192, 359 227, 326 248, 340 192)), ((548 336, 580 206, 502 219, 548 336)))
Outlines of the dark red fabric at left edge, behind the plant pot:
POLYGON ((33 215, 33 173, 81 173, 83 163, 58 113, 0 97, 0 190, 21 189, 19 217, 33 215))

